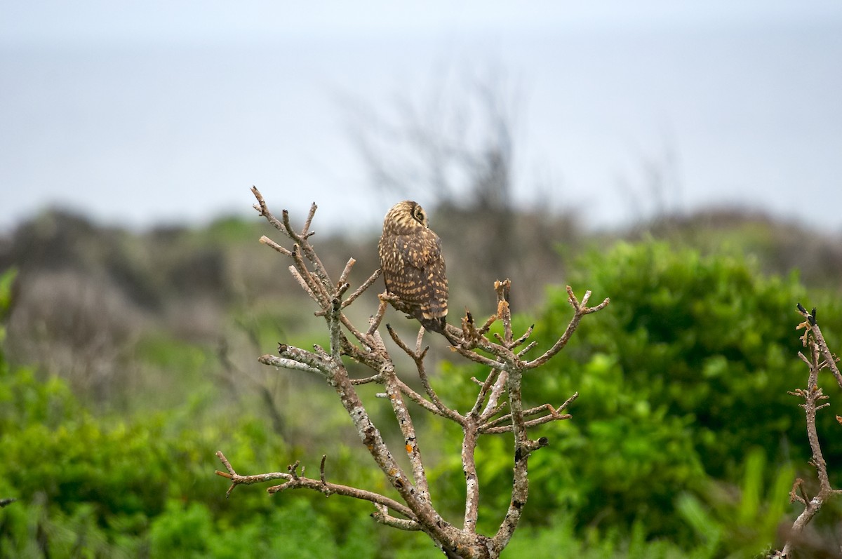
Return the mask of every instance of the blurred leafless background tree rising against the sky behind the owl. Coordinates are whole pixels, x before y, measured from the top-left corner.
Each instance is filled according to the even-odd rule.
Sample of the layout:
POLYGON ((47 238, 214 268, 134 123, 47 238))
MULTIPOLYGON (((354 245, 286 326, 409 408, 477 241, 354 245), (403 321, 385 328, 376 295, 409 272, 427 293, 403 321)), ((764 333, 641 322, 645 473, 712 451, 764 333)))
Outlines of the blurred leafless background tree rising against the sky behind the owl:
POLYGON ((453 73, 437 72, 421 98, 407 93, 386 108, 346 99, 349 133, 376 189, 431 194, 429 206, 451 218, 443 221, 480 230, 479 273, 511 278, 524 264, 514 204, 519 88, 499 66, 453 73))

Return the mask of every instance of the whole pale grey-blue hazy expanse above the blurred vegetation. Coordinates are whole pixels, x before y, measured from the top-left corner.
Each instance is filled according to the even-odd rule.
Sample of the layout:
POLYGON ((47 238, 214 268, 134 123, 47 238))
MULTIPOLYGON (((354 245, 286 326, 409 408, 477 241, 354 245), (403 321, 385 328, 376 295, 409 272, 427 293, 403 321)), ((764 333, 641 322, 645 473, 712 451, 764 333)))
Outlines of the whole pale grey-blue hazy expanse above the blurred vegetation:
POLYGON ((746 205, 842 232, 839 0, 0 0, 0 13, 3 229, 48 205, 207 221, 248 211, 251 184, 374 223, 389 204, 338 97, 387 107, 437 68, 493 63, 521 92, 519 199, 610 225, 663 203, 647 200, 647 164, 672 165, 669 209, 746 205))

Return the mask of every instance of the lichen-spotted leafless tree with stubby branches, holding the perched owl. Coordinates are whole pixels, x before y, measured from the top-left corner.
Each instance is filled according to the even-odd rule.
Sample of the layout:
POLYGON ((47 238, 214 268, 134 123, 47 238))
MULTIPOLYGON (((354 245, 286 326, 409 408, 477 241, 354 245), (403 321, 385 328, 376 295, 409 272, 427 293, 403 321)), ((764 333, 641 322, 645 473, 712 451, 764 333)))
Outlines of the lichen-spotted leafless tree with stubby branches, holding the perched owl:
POLYGON ((582 301, 578 301, 573 295, 573 290, 568 287, 573 317, 567 328, 550 349, 535 359, 528 359, 526 355, 536 347, 534 341, 527 343, 532 328, 515 337, 509 309, 509 280, 496 281, 494 290, 497 293, 498 305, 497 312, 492 317, 480 325, 474 322, 470 312, 466 312, 466 316, 461 319, 461 329, 448 326, 449 332, 456 339, 462 340, 459 345, 453 346, 454 351, 465 359, 488 367, 488 375, 485 379, 475 379, 478 391, 472 407, 466 413, 459 413, 441 400, 430 381, 424 365, 424 358, 429 348, 422 348, 423 327, 419 330, 413 347, 412 344, 403 341, 395 330, 386 324, 389 337, 413 360, 416 373, 424 386, 424 394, 414 391, 397 375, 396 366, 386 349, 379 329, 388 304, 393 302, 390 295, 386 293, 380 295, 380 305, 365 329, 354 326, 345 316, 344 309, 374 284, 380 275, 380 270, 376 270, 362 285, 348 295, 350 286, 347 280, 354 266, 354 258, 349 259, 348 264, 339 274, 338 280, 334 281, 309 242, 309 237, 313 234, 310 226, 316 212, 316 205, 312 205, 301 232, 295 232, 290 226, 286 210, 279 220, 269 211, 257 189, 253 189, 253 194, 258 200, 258 204, 254 206, 255 209, 278 231, 289 237, 293 246, 291 249, 285 248, 268 237, 261 237, 260 241, 286 258, 290 258, 292 261, 290 273, 301 285, 301 289, 305 290, 313 301, 316 301, 319 308, 316 315, 324 318, 330 333, 328 348, 315 345, 311 351, 280 343, 277 355, 263 355, 259 361, 265 365, 317 375, 326 381, 328 386, 336 391, 339 401, 354 423, 360 441, 397 492, 398 498, 329 482, 326 474, 326 456, 322 456, 317 478, 304 476, 304 468, 299 469, 298 461, 288 466, 287 471, 242 476, 237 474, 226 456, 220 451, 217 452, 217 456, 226 471, 216 471, 216 473, 231 480, 231 487, 228 488, 227 494, 230 495, 237 485, 282 480, 280 485, 269 487, 268 491, 275 493, 286 489, 306 488, 328 496, 338 494, 369 501, 375 508, 372 516, 377 522, 399 530, 421 530, 429 535, 446 556, 465 559, 498 557, 517 528, 528 498, 529 456, 532 452, 549 444, 546 437, 530 439, 528 430, 543 423, 570 418, 571 416, 565 413, 565 410, 570 402, 578 397, 578 393, 574 393, 558 407, 546 403, 525 408, 521 398, 523 375, 528 370, 544 365, 553 355, 561 351, 581 319, 589 313, 605 308, 609 300, 605 299, 599 305, 591 307, 588 306, 590 291, 584 294, 582 301), (498 321, 503 324, 503 334, 495 333, 489 336, 489 328, 493 322, 498 321), (343 357, 365 365, 372 374, 364 378, 352 378, 345 368, 343 357), (357 386, 369 383, 380 384, 385 389, 379 396, 391 404, 392 412, 402 431, 404 446, 401 451, 408 455, 411 467, 409 472, 404 471, 395 458, 396 453, 386 446, 380 429, 377 429, 372 422, 364 402, 357 393, 357 386), (459 424, 462 429, 464 436, 460 452, 466 496, 465 514, 461 527, 442 518, 434 504, 422 460, 421 444, 409 412, 410 402, 426 413, 459 424), (497 532, 493 535, 482 535, 477 533, 480 485, 475 451, 482 435, 504 433, 514 435, 511 500, 497 532))

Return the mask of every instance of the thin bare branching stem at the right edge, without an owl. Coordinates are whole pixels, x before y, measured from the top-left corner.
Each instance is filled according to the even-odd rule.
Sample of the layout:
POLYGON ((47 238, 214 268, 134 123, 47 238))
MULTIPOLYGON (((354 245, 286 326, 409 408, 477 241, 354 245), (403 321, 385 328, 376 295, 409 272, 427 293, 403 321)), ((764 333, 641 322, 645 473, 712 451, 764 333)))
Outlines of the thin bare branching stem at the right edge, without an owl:
MULTIPOLYGON (((816 309, 813 309, 812 312, 807 312, 801 303, 799 303, 798 312, 804 317, 804 322, 798 325, 798 329, 804 330, 801 340, 804 347, 808 349, 807 353, 809 354, 809 356, 806 356, 799 351, 798 357, 809 367, 809 375, 807 376, 807 388, 797 388, 795 391, 791 391, 790 394, 804 399, 804 403, 800 405, 804 408, 804 413, 807 416, 807 440, 810 441, 810 449, 813 450, 813 458, 810 460, 810 463, 816 468, 818 493, 813 498, 808 497, 807 491, 804 488, 804 480, 801 478, 798 478, 792 485, 790 502, 801 503, 804 510, 798 515, 798 518, 795 519, 792 527, 788 530, 786 545, 781 551, 775 551, 772 555, 775 559, 791 557, 798 547, 810 546, 809 542, 803 538, 803 532, 807 524, 813 520, 819 509, 830 498, 842 495, 842 489, 834 489, 830 485, 828 465, 824 461, 822 447, 819 445, 818 432, 816 430, 816 413, 818 410, 830 405, 828 402, 819 403, 827 400, 828 397, 823 394, 822 389, 818 386, 818 372, 823 369, 829 369, 839 384, 839 388, 842 388, 842 374, 839 373, 839 367, 836 365, 839 358, 830 353, 828 344, 824 341, 822 331, 816 322, 816 309)), ((842 423, 842 417, 838 415, 836 416, 836 420, 842 423)), ((842 555, 842 547, 829 550, 829 553, 832 554, 829 556, 842 555)))

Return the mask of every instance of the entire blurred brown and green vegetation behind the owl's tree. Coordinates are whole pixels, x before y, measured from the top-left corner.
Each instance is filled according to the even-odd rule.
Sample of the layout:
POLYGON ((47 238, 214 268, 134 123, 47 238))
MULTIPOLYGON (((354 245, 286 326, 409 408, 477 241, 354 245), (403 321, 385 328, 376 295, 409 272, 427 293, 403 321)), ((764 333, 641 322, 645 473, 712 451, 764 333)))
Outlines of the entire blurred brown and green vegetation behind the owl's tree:
MULTIPOLYGON (((737 210, 616 232, 514 212, 511 252, 482 258, 484 241, 494 252, 494 211, 443 203, 430 214, 455 313, 493 311, 501 265, 517 321, 536 324, 541 347, 571 315, 565 284, 611 298, 525 379, 536 405, 581 396, 572 420, 536 433, 551 446, 530 461, 524 525, 504 556, 756 556, 781 545, 798 512, 791 482, 814 477, 803 412, 786 393, 807 378, 795 304, 818 306, 839 349, 838 239, 737 210)), ((327 454, 333 481, 388 492, 331 391, 257 363, 280 340, 326 341, 285 262, 257 242, 263 234, 273 237, 256 217, 128 232, 53 210, 3 239, 0 497, 18 501, 0 509, 0 556, 437 556, 424 535, 373 523, 365 503, 260 487, 226 500, 216 450, 242 473, 298 459, 315 468, 327 454)), ((356 258, 359 285, 377 266, 378 234, 313 241, 337 273, 356 258)), ((350 307, 354 320, 374 311, 380 289, 350 307)), ((484 373, 429 342, 435 386, 460 408, 484 373)), ((411 367, 401 374, 413 381, 411 367)), ((833 407, 819 413, 819 434, 839 487, 842 395, 823 388, 833 407)), ((370 401, 397 440, 388 407, 370 401)), ((456 519, 460 433, 416 415, 434 498, 456 519)), ((501 435, 480 446, 482 530, 508 503, 509 445, 501 435)), ((839 504, 819 514, 804 556, 838 553, 839 504)))

